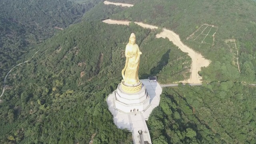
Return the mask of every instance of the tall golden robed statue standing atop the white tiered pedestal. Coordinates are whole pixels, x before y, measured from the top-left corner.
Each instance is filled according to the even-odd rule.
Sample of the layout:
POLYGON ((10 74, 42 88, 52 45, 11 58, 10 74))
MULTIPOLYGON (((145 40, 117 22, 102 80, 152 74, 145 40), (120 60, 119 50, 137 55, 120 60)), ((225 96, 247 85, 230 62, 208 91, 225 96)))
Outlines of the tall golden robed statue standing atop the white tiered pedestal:
MULTIPOLYGON (((122 70, 122 83, 126 86, 140 85, 138 77, 138 70, 140 65, 140 52, 139 46, 136 44, 136 36, 134 33, 129 38, 129 43, 125 48, 126 62, 124 69, 122 70)), ((140 86, 141 88, 141 86, 140 86)))

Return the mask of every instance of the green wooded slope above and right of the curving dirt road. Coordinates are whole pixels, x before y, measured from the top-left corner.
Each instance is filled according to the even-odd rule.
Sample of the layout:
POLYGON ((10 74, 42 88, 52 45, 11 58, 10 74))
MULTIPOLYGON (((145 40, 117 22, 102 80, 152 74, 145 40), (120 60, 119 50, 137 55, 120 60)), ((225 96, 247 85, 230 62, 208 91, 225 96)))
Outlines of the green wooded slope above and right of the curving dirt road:
POLYGON ((212 61, 210 66, 200 72, 208 82, 255 82, 255 11, 256 2, 251 0, 147 0, 111 18, 140 21, 173 30, 186 45, 212 61), (218 28, 213 44, 187 40, 202 24, 218 28), (229 39, 236 40, 241 74, 233 58, 236 53, 225 42, 229 39))

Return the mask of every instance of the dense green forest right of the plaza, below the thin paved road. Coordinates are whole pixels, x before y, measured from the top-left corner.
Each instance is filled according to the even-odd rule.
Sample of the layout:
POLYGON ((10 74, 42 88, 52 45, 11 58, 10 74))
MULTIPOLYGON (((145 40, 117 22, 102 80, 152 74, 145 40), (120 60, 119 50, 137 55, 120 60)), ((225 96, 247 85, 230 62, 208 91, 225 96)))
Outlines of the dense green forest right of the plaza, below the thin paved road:
POLYGON ((164 88, 148 120, 153 144, 255 144, 254 86, 211 82, 164 88))

